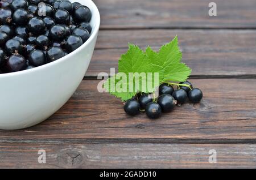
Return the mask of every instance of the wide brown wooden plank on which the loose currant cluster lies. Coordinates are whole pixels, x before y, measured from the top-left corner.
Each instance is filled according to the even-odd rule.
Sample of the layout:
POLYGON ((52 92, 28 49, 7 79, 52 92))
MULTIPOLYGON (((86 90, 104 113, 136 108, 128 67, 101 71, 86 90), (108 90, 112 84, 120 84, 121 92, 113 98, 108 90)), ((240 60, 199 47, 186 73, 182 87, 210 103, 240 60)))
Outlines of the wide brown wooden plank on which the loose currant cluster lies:
POLYGON ((204 92, 200 104, 184 104, 152 121, 129 117, 122 102, 84 80, 55 115, 40 125, 0 131, 0 142, 256 142, 256 80, 195 79, 204 92), (143 141, 144 140, 144 141, 143 141))

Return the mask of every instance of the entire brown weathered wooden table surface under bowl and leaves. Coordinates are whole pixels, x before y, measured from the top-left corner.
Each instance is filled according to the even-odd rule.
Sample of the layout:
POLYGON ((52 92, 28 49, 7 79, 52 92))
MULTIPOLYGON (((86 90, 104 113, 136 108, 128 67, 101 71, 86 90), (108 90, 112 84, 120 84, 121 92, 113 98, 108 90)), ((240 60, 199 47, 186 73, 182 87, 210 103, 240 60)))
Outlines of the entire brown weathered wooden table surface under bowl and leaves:
POLYGON ((256 168, 256 1, 215 0, 216 17, 205 0, 94 2, 102 23, 84 80, 47 121, 0 131, 0 168, 256 168), (97 91, 98 73, 117 67, 128 42, 159 49, 175 35, 200 104, 152 121, 97 91))

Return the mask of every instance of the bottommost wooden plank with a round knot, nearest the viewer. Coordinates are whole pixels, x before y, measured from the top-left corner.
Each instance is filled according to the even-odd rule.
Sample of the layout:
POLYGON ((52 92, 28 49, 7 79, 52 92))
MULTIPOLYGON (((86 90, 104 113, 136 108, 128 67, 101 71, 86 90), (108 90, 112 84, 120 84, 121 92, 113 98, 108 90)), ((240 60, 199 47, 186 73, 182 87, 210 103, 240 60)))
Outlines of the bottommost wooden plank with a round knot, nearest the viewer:
POLYGON ((0 144, 0 168, 255 168, 255 144, 0 144), (38 151, 46 151, 46 164, 38 151), (217 163, 209 163, 209 151, 217 163))

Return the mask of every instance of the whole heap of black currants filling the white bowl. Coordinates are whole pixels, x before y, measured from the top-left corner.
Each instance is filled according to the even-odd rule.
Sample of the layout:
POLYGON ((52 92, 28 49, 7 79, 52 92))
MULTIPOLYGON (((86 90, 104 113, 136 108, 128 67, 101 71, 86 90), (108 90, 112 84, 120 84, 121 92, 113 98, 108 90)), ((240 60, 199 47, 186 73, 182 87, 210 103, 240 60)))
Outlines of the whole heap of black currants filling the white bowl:
POLYGON ((92 12, 64 0, 0 1, 0 74, 56 61, 92 31, 92 12))

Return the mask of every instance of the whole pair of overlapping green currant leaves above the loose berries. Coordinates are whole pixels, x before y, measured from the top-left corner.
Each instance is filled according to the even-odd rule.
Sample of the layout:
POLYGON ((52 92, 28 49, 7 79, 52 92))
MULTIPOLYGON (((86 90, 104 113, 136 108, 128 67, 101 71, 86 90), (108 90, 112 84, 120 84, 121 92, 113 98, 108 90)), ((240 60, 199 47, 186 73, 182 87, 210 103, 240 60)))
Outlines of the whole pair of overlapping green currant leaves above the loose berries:
POLYGON ((162 82, 184 82, 191 69, 180 62, 181 58, 177 36, 159 52, 150 46, 143 52, 138 46, 129 44, 129 50, 118 61, 118 73, 104 83, 104 88, 126 101, 138 92, 154 92, 162 82))

